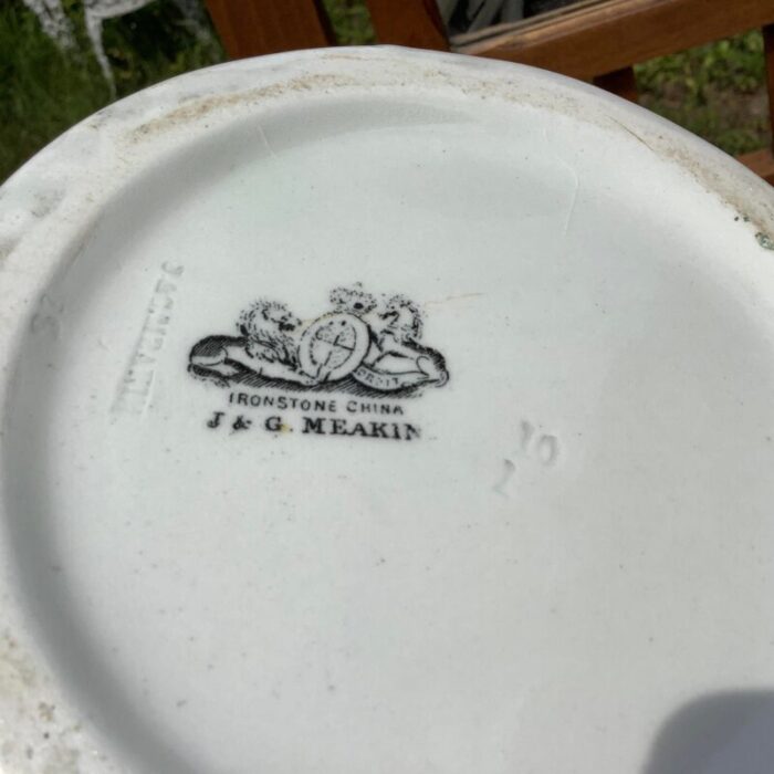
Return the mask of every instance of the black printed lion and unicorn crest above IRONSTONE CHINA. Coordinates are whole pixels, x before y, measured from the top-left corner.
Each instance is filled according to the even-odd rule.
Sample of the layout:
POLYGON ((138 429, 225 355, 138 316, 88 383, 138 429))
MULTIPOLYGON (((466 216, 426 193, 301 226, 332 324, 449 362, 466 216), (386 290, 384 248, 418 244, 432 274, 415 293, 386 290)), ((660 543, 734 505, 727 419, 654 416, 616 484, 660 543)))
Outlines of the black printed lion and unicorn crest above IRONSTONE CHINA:
POLYGON ((221 387, 342 391, 404 397, 449 379, 443 356, 421 344, 422 314, 404 295, 377 296, 358 283, 331 292, 332 308, 302 324, 279 301, 260 300, 237 321, 237 335, 207 336, 188 370, 221 387))

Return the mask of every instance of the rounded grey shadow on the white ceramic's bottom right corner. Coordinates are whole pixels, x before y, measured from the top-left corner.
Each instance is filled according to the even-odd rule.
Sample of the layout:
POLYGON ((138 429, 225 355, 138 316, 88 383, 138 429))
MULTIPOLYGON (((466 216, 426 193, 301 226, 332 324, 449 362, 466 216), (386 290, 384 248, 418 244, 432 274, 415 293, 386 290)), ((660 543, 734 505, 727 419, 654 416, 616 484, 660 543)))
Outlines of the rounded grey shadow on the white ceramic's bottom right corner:
POLYGON ((697 699, 661 728, 642 774, 772 774, 774 690, 697 699))

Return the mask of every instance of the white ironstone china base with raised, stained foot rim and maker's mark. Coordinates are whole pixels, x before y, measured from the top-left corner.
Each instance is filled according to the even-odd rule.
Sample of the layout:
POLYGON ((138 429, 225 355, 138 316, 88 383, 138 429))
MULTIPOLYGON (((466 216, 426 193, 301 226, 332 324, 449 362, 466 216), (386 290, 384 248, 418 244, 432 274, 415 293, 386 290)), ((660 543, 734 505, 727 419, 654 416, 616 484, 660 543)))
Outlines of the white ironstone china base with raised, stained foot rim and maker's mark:
POLYGON ((0 770, 771 771, 773 202, 391 49, 67 133, 0 191, 0 770))

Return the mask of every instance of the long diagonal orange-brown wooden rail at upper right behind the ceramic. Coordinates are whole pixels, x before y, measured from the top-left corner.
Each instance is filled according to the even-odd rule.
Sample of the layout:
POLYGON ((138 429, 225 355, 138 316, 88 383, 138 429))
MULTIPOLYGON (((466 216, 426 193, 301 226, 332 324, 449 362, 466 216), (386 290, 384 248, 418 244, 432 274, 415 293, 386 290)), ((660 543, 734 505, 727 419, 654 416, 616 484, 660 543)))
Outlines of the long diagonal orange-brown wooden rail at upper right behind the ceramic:
POLYGON ((774 23, 774 0, 610 0, 456 46, 579 79, 774 23))

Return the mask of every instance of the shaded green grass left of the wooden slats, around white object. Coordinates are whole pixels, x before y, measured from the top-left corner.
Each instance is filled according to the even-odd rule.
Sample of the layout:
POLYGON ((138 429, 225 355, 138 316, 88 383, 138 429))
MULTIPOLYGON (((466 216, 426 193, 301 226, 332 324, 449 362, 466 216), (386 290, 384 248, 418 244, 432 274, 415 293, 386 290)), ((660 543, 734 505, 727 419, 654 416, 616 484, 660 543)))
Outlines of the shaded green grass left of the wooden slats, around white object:
MULTIPOLYGON (((79 38, 77 53, 60 51, 20 0, 0 0, 0 180, 111 102, 81 6, 69 0, 65 7, 79 38)), ((217 38, 198 40, 168 0, 106 22, 103 40, 119 97, 224 57, 217 38)))

